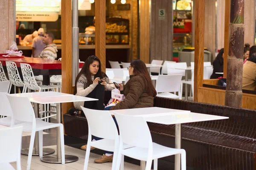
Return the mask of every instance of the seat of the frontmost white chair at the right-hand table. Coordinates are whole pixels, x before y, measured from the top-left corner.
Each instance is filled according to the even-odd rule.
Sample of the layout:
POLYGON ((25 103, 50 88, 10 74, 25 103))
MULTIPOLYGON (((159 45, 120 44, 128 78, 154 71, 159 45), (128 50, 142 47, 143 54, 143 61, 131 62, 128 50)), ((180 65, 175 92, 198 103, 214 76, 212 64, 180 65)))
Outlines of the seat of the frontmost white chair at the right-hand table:
MULTIPOLYGON (((148 148, 144 147, 131 147, 129 149, 122 150, 121 153, 125 156, 139 159, 142 161, 147 161, 148 158, 148 148)), ((169 155, 175 155, 180 153, 180 149, 165 147, 160 144, 153 142, 153 157, 152 159, 159 159, 169 155)))

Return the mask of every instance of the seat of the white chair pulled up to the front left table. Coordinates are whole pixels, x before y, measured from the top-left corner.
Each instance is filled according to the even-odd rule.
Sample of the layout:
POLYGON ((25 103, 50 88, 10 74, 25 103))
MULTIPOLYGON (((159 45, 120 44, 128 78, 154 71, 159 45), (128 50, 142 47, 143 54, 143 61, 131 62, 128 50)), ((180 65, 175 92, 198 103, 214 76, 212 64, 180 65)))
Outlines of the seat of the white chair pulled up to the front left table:
MULTIPOLYGON (((61 123, 44 122, 40 118, 36 118, 35 122, 36 122, 35 131, 50 129, 50 128, 59 127, 60 125, 62 125, 61 123)), ((15 127, 15 126, 23 126, 23 131, 25 131, 25 132, 31 132, 32 131, 32 128, 31 128, 32 127, 32 122, 20 123, 18 125, 14 125, 13 127, 15 127)))

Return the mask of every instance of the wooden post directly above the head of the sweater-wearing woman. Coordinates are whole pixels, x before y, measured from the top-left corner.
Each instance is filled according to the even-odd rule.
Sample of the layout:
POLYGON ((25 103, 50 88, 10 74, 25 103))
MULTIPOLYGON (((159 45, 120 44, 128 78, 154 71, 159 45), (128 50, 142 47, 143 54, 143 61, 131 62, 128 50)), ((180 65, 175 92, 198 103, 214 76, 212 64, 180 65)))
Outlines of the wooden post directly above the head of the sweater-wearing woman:
POLYGON ((106 0, 95 1, 95 54, 106 70, 106 0))

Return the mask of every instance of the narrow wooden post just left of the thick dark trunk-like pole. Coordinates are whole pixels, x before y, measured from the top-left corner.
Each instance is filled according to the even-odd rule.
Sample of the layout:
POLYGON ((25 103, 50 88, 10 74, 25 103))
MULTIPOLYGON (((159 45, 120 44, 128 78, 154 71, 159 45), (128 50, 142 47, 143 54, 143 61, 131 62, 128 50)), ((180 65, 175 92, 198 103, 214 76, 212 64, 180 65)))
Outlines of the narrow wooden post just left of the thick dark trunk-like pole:
POLYGON ((225 29, 224 29, 224 64, 223 77, 227 77, 227 55, 229 43, 229 23, 230 23, 230 0, 225 0, 225 29))

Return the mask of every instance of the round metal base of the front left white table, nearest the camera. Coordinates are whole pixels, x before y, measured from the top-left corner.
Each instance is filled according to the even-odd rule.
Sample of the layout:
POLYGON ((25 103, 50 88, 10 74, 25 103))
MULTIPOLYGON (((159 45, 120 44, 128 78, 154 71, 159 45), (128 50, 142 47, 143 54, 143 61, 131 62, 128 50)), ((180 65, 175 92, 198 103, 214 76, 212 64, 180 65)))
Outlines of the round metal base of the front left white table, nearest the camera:
MULTIPOLYGON (((41 161, 47 162, 47 163, 61 164, 61 159, 57 159, 57 155, 43 156, 41 158, 41 161)), ((65 155, 65 163, 70 163, 70 162, 75 162, 75 161, 78 161, 77 156, 65 155)))

